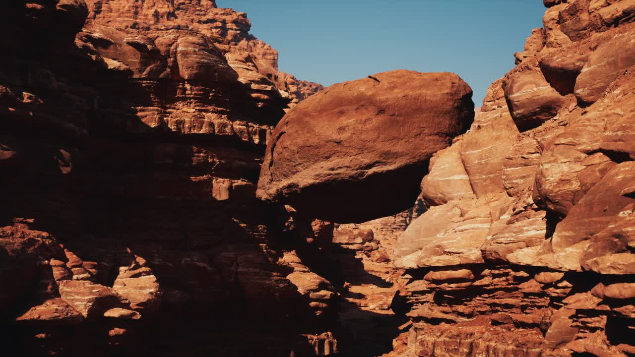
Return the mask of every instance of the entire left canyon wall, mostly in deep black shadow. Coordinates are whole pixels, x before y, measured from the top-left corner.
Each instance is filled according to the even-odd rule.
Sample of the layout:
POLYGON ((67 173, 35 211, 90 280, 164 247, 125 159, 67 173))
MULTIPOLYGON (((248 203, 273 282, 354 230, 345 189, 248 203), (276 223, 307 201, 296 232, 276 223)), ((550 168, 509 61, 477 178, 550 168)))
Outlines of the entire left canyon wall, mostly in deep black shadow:
POLYGON ((277 207, 255 198, 302 86, 246 15, 204 0, 0 14, 6 353, 324 354, 333 336, 270 248, 277 207))

